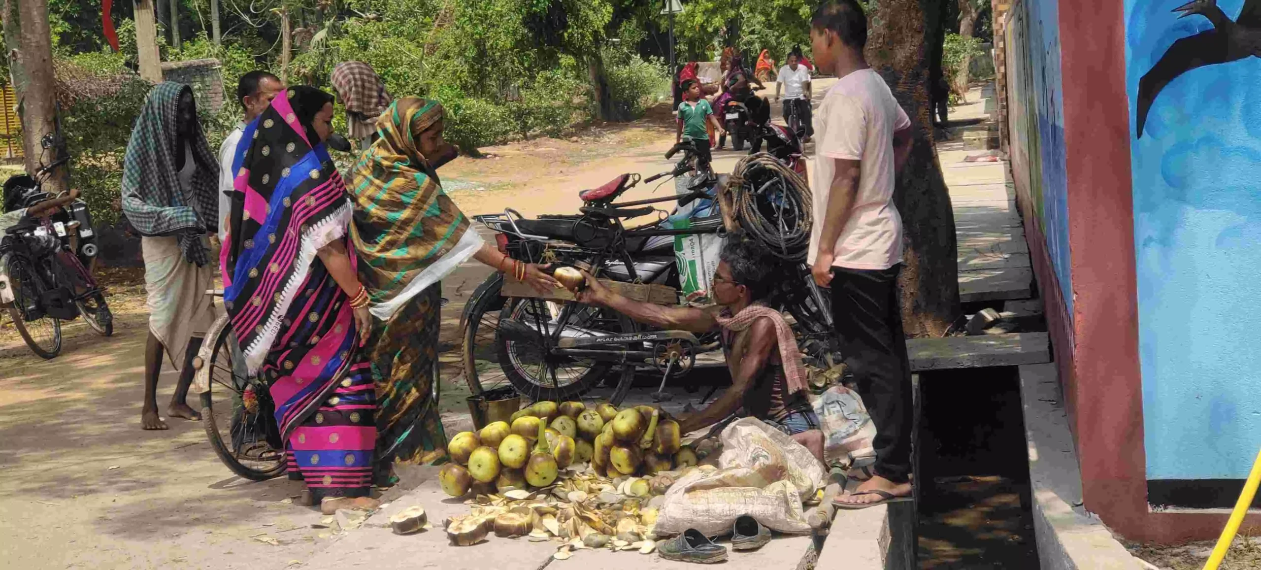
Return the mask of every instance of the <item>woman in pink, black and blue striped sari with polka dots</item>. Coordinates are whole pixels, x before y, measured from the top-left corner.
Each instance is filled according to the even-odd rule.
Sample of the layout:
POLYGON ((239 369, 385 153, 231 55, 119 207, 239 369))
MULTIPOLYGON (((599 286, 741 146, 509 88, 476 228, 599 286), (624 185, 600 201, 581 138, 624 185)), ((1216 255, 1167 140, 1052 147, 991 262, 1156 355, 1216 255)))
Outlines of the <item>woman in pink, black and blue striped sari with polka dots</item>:
POLYGON ((376 445, 371 324, 347 230, 351 203, 324 148, 333 97, 290 87, 241 136, 224 305, 251 375, 275 402, 290 475, 332 513, 367 508, 376 445))

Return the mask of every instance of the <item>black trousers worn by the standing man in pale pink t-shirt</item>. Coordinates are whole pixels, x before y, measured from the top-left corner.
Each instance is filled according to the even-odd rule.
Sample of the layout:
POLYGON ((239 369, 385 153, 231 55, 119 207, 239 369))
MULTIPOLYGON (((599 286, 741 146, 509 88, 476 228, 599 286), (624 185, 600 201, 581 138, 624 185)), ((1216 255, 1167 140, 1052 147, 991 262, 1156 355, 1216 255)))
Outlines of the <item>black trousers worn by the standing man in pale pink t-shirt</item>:
POLYGON ((910 363, 902 332, 898 274, 832 267, 832 320, 841 356, 875 424, 875 473, 895 483, 910 474, 910 363))

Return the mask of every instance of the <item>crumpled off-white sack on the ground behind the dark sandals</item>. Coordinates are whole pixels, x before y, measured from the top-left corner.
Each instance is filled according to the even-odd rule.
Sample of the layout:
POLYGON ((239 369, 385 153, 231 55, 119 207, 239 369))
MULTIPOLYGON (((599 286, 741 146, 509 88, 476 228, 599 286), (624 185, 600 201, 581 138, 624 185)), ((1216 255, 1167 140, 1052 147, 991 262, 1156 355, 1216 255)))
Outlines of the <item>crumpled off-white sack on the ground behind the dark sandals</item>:
POLYGON ((741 515, 779 532, 810 532, 802 501, 825 478, 810 450, 753 417, 726 426, 720 438, 720 468, 692 470, 671 486, 654 532, 726 535, 741 515))

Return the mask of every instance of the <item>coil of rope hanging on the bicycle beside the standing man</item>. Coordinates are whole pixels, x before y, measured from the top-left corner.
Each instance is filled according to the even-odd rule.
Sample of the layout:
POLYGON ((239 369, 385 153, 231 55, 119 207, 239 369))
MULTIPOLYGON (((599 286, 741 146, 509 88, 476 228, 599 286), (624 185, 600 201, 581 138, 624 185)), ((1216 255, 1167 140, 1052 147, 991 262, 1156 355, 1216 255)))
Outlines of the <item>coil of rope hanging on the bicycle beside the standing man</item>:
POLYGON ((743 230, 783 260, 806 259, 813 197, 784 163, 768 153, 740 159, 718 199, 728 231, 743 230))

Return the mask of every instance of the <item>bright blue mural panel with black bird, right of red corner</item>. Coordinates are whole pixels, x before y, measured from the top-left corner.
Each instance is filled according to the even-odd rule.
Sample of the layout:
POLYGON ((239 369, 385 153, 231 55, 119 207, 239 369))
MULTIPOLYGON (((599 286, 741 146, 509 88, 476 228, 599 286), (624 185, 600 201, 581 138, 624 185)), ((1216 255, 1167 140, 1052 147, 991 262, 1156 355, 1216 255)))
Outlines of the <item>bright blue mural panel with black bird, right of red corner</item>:
POLYGON ((1243 478, 1261 445, 1261 1, 1125 16, 1148 479, 1243 478))

